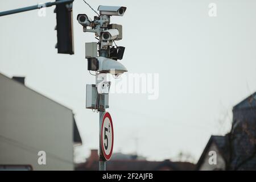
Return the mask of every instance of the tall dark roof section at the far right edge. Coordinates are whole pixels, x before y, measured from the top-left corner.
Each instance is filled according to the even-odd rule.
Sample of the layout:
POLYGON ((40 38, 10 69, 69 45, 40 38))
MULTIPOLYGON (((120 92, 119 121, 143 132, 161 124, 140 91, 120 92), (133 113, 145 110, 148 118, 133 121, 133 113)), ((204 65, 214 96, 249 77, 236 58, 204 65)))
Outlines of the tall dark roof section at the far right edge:
POLYGON ((256 92, 233 107, 232 160, 238 170, 256 169, 256 92))

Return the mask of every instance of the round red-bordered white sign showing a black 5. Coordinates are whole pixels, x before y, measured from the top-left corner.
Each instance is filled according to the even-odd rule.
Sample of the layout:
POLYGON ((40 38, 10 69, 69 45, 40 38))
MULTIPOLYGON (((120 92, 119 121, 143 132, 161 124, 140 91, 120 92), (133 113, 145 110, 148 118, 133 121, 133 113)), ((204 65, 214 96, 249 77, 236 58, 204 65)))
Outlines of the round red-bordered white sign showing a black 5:
POLYGON ((108 112, 105 112, 101 118, 101 151, 106 160, 109 160, 113 151, 114 130, 112 118, 108 112))

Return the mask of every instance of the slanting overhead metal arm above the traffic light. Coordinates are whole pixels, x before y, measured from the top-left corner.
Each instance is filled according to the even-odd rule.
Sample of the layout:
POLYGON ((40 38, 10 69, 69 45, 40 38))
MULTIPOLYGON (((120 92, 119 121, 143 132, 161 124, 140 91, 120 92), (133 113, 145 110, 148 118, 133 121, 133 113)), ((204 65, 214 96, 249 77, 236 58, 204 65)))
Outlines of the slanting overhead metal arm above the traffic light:
POLYGON ((40 9, 42 7, 50 7, 53 5, 59 5, 59 4, 63 4, 63 3, 71 3, 73 1, 74 0, 60 0, 60 1, 55 1, 55 2, 42 3, 42 4, 38 4, 38 5, 34 5, 34 6, 22 7, 22 8, 15 9, 15 10, 2 11, 2 12, 0 12, 0 16, 21 13, 24 11, 36 10, 36 9, 40 9))

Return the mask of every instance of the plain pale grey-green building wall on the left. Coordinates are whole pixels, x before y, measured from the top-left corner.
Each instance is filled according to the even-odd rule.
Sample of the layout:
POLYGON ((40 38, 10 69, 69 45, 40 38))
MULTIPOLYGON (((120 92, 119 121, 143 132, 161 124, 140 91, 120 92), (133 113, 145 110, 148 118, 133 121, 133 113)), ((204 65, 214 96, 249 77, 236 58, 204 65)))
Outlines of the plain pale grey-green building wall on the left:
POLYGON ((0 74, 0 164, 73 170, 72 110, 0 74), (46 152, 46 165, 38 152, 46 152))

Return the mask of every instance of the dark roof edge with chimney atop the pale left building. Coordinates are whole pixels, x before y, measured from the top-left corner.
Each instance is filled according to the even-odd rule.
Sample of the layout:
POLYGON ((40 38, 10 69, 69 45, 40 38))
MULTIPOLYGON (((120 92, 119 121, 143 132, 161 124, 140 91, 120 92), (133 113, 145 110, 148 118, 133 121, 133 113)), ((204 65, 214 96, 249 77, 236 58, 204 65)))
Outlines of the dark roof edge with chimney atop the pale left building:
MULTIPOLYGON (((9 78, 9 77, 3 75, 2 73, 0 73, 0 76, 5 77, 5 78, 9 79, 10 81, 15 81, 15 82, 17 82, 20 86, 23 86, 23 87, 26 88, 27 90, 31 90, 32 92, 35 92, 36 94, 40 95, 41 97, 44 97, 44 98, 46 98, 47 100, 49 100, 49 101, 51 101, 51 102, 54 102, 55 104, 57 104, 57 105, 59 105, 59 106, 61 106, 61 107, 65 107, 66 109, 68 109, 68 110, 70 110, 70 111, 72 112, 72 110, 69 109, 68 107, 59 104, 58 102, 52 100, 51 98, 48 98, 48 97, 44 96, 43 94, 41 94, 41 93, 39 93, 39 92, 36 92, 35 90, 33 90, 33 89, 31 89, 31 88, 28 88, 28 87, 22 82, 22 81, 24 81, 24 77, 23 77, 23 78, 13 77, 13 79, 12 79, 12 78, 9 78)), ((79 144, 82 143, 79 130, 77 129, 77 125, 76 125, 76 121, 75 121, 74 115, 73 115, 73 142, 79 143, 79 144)))

